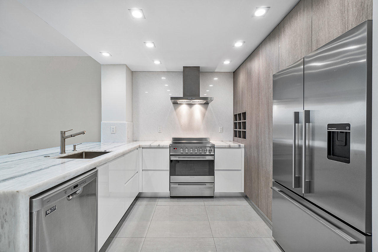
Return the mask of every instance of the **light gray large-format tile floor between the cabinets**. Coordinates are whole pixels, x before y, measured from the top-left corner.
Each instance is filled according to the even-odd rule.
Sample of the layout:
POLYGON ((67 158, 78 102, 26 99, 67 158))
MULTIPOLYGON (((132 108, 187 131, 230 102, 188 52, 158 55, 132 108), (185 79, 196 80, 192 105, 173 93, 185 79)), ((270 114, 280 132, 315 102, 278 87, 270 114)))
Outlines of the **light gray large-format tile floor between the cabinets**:
POLYGON ((138 198, 108 252, 281 252, 246 198, 138 198))

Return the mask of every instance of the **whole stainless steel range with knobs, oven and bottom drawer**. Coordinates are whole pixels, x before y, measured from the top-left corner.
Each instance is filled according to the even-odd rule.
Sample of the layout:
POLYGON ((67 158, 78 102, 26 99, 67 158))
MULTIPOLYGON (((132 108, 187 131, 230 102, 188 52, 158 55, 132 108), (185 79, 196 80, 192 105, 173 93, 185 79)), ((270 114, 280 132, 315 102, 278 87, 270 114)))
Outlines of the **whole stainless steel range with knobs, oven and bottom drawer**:
POLYGON ((170 196, 214 196, 214 144, 209 138, 172 138, 170 196))

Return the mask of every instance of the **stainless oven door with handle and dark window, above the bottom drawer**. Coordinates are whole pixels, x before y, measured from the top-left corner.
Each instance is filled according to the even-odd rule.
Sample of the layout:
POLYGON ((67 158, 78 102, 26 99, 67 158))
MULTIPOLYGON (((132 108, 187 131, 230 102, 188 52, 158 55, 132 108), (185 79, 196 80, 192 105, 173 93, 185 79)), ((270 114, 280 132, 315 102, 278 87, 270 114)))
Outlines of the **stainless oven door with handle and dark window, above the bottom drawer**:
POLYGON ((171 183, 214 183, 214 155, 170 156, 171 183))

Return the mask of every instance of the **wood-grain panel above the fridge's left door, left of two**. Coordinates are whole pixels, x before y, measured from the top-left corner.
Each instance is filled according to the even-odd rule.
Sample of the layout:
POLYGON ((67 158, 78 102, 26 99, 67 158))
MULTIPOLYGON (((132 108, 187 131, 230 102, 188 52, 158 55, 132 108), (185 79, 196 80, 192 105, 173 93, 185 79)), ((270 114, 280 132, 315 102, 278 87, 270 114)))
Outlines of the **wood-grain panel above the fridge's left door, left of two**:
POLYGON ((311 53, 311 48, 311 0, 301 0, 279 24, 279 70, 311 53))

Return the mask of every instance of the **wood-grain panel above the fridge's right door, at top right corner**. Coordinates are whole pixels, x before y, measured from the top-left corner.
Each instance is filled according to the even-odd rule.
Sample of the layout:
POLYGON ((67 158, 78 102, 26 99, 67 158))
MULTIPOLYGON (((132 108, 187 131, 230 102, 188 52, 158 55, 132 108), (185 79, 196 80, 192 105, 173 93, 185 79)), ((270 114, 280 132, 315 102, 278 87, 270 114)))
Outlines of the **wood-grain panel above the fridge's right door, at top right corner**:
POLYGON ((312 0, 312 50, 373 19, 373 0, 312 0))

